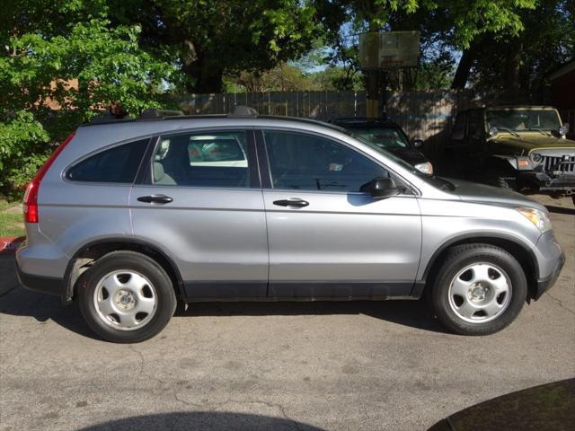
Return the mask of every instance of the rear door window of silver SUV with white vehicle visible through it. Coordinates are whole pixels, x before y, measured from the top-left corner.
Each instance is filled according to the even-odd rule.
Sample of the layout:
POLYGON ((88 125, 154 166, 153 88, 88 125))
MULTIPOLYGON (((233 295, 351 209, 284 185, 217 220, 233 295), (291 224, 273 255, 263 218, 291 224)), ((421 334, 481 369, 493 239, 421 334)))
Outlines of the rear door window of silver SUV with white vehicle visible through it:
POLYGON ((250 187, 245 132, 162 136, 153 182, 164 186, 250 187))

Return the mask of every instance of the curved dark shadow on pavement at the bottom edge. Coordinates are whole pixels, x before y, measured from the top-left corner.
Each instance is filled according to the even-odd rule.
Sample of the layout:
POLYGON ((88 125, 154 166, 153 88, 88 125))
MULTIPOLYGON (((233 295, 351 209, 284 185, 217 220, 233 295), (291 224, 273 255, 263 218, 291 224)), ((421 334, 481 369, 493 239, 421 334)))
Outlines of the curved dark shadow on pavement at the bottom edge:
POLYGON ((157 415, 123 418, 80 428, 78 431, 322 431, 320 428, 302 424, 289 418, 249 415, 232 412, 173 412, 157 415))

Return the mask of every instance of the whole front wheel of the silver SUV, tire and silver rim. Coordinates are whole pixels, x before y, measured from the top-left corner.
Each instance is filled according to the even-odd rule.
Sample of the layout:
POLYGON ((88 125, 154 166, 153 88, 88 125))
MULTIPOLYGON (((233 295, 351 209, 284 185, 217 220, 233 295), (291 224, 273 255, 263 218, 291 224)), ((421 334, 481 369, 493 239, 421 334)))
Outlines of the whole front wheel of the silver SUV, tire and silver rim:
POLYGON ((453 247, 430 292, 438 320, 464 335, 487 335, 509 326, 526 302, 523 268, 508 251, 489 244, 453 247))

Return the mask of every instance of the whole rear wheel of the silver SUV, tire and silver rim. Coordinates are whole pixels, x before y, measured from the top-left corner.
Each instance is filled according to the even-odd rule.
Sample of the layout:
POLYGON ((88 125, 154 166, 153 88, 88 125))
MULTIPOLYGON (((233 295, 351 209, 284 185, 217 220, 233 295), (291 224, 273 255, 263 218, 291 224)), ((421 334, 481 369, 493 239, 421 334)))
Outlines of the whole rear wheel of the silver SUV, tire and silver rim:
POLYGON ((134 251, 114 251, 98 259, 82 275, 78 295, 90 328, 117 343, 154 337, 176 306, 164 268, 134 251))

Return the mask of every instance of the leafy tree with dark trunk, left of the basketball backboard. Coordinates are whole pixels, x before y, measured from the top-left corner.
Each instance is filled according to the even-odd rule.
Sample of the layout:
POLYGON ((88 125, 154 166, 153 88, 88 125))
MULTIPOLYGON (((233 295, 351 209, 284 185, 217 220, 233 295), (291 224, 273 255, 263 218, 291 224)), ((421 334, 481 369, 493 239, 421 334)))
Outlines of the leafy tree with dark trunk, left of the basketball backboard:
POLYGON ((224 75, 270 70, 311 48, 319 27, 309 3, 126 0, 113 13, 119 22, 142 23, 148 48, 173 52, 187 91, 219 92, 224 75))

